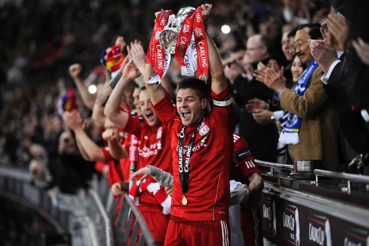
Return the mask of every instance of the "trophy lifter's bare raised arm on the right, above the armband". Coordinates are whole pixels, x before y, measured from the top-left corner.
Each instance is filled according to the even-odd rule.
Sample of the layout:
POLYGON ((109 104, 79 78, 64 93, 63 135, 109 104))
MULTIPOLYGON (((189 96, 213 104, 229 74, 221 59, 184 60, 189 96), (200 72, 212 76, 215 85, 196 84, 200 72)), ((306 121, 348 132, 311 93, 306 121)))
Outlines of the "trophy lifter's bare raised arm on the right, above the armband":
MULTIPOLYGON (((211 8, 210 4, 201 5, 201 11, 204 19, 205 29, 207 25, 207 20, 210 15, 211 8)), ((220 55, 215 46, 213 39, 210 38, 209 34, 206 31, 206 42, 208 46, 208 60, 209 60, 209 70, 211 74, 211 90, 214 91, 215 94, 221 93, 228 85, 227 80, 225 79, 222 61, 220 59, 220 55)))

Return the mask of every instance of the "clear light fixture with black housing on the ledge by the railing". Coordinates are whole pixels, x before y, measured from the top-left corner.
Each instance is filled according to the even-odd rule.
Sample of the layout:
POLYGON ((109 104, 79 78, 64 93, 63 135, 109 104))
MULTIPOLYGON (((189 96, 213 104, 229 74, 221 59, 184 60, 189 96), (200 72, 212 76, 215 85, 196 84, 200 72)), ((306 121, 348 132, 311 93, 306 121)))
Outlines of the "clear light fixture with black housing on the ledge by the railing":
POLYGON ((293 170, 287 177, 292 179, 315 179, 314 170, 325 170, 324 160, 295 160, 293 170))

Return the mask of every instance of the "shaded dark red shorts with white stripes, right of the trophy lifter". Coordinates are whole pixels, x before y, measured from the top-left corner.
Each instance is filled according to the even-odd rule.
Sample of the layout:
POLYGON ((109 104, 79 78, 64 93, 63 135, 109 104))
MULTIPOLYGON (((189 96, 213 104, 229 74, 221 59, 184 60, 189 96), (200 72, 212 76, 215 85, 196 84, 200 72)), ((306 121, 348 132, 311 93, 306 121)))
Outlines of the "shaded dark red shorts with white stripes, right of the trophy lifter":
POLYGON ((261 223, 261 212, 257 205, 245 210, 241 209, 241 229, 244 234, 245 245, 263 245, 263 228, 261 223))

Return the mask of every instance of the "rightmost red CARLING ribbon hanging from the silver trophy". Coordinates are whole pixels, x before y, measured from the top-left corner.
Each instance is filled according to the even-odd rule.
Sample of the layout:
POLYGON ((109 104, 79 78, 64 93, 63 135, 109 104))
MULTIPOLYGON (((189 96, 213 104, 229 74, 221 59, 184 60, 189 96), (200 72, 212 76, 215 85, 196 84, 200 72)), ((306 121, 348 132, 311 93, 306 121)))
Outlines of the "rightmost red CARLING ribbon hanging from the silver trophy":
POLYGON ((195 37, 196 52, 197 52, 197 77, 201 78, 201 76, 204 74, 205 77, 207 78, 209 73, 209 60, 204 27, 204 18, 203 14, 201 13, 201 7, 198 7, 195 11, 192 28, 195 37))

